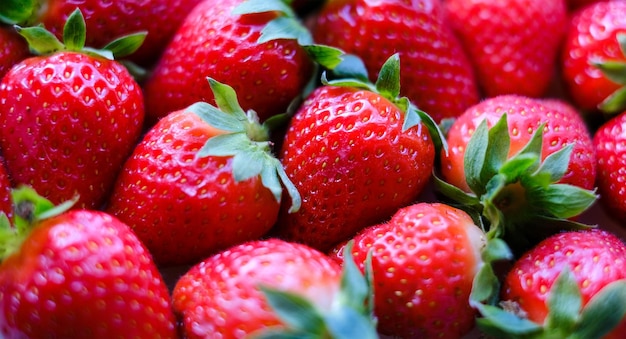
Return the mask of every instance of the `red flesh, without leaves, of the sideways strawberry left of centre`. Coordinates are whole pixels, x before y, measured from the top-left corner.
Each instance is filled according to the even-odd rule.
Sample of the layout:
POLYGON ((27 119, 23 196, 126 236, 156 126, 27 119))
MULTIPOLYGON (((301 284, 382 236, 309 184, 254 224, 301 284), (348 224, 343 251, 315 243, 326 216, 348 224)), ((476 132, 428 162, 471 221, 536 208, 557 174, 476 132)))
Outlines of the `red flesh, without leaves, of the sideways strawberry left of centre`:
POLYGON ((223 133, 185 110, 161 119, 125 163, 107 211, 128 224, 161 265, 194 264, 259 238, 279 203, 259 177, 235 182, 232 157, 196 153, 223 133))

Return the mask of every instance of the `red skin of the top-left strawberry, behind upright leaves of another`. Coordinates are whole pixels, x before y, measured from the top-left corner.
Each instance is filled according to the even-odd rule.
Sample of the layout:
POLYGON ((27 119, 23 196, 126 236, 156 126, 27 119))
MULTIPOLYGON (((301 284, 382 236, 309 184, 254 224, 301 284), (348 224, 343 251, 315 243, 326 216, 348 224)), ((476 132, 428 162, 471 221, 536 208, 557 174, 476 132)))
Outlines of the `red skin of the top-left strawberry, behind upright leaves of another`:
POLYGON ((146 31, 144 43, 129 58, 151 66, 200 1, 46 0, 47 7, 37 21, 61 38, 67 17, 79 8, 87 26, 86 45, 94 48, 102 48, 123 35, 146 31))

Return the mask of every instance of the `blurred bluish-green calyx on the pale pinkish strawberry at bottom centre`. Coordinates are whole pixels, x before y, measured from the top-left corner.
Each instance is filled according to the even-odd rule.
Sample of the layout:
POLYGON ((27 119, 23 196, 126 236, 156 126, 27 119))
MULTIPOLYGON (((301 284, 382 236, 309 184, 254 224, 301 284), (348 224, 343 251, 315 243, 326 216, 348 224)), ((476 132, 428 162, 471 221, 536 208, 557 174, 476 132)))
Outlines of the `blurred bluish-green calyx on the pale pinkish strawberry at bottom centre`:
POLYGON ((349 242, 343 250, 341 289, 330 311, 317 309, 310 300, 298 294, 261 286, 270 307, 286 326, 264 329, 254 333, 252 338, 378 338, 373 310, 371 252, 365 263, 365 274, 361 274, 351 249, 352 242, 349 242))

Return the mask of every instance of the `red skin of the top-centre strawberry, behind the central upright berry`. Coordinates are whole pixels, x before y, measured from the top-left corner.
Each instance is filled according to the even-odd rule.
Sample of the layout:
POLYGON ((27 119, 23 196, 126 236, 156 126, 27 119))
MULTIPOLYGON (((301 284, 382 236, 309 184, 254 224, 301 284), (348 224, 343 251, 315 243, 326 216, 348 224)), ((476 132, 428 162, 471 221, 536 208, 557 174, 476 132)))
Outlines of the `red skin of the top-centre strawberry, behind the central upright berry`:
POLYGON ((401 94, 437 122, 478 102, 472 66, 439 0, 327 1, 312 31, 317 43, 360 56, 372 81, 400 53, 401 94))

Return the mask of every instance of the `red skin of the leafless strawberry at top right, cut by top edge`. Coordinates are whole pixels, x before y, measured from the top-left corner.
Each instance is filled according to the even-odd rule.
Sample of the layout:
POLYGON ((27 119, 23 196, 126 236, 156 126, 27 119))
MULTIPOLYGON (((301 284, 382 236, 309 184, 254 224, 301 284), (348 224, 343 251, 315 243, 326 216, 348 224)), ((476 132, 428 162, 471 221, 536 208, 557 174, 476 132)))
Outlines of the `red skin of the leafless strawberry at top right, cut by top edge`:
POLYGON ((546 94, 567 25, 564 0, 447 0, 484 96, 546 94))

